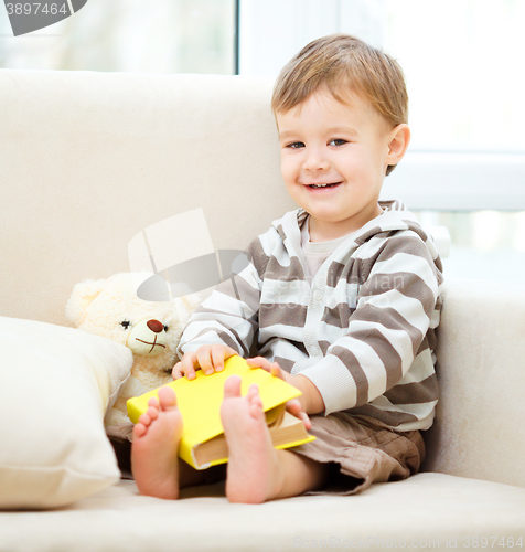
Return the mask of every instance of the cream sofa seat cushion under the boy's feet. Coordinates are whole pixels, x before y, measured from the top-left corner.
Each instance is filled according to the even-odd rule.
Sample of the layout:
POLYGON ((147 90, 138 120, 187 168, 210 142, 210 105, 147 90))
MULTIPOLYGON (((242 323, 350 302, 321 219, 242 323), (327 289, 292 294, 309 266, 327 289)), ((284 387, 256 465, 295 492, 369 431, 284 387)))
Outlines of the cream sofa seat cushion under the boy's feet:
POLYGON ((10 512, 8 523, 0 513, 0 548, 519 552, 525 545, 525 489, 443 474, 376 484, 352 497, 301 496, 264 505, 228 503, 221 484, 183 489, 181 495, 181 500, 143 497, 135 481, 120 481, 45 517, 10 512))

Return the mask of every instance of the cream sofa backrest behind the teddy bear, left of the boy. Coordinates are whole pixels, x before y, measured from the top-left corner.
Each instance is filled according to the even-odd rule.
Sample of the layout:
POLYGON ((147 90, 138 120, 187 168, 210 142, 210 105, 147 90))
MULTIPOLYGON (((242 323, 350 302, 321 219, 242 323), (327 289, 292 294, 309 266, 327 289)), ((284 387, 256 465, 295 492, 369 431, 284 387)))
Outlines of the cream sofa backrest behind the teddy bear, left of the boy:
POLYGON ((73 286, 128 272, 129 241, 175 214, 201 208, 215 248, 244 248, 293 209, 271 85, 0 71, 0 314, 67 323, 73 286))

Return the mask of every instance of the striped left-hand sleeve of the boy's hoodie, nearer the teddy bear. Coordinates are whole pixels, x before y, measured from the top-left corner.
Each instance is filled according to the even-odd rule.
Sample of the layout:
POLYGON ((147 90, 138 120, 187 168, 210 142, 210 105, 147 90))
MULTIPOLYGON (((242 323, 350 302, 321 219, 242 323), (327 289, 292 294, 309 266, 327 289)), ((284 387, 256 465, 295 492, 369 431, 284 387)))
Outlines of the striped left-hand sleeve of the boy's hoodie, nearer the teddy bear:
POLYGON ((249 245, 248 266, 216 286, 192 314, 179 343, 180 355, 215 343, 228 346, 242 357, 248 355, 258 328, 260 265, 267 262, 259 244, 257 238, 249 245))

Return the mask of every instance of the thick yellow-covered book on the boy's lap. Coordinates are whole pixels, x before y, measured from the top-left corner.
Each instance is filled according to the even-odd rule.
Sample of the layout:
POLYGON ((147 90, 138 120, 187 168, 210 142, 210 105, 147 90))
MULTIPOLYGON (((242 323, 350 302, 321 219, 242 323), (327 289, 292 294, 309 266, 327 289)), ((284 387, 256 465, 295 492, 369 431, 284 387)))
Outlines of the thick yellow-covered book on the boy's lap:
MULTIPOLYGON (((228 460, 228 449, 221 422, 221 404, 224 382, 233 374, 243 379, 240 394, 244 396, 253 383, 259 386, 259 395, 266 413, 266 421, 276 448, 288 448, 310 443, 304 424, 286 411, 286 402, 301 392, 260 368, 250 368, 240 357, 226 359, 224 370, 205 375, 196 370, 194 380, 181 378, 165 386, 176 394, 184 425, 179 456, 195 469, 205 469, 228 460)), ((148 401, 158 397, 158 389, 130 399, 127 403, 129 420, 136 424, 148 410, 148 401)))

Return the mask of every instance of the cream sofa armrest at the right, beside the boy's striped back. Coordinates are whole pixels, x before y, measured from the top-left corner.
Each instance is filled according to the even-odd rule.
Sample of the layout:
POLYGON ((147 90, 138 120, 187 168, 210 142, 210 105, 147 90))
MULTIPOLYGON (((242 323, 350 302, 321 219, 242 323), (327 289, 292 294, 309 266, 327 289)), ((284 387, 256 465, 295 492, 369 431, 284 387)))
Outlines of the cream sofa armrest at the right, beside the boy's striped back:
POLYGON ((425 471, 525 487, 525 287, 448 280, 425 471))

